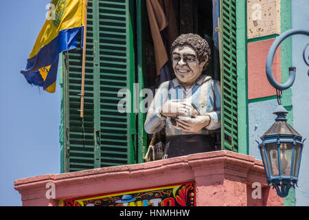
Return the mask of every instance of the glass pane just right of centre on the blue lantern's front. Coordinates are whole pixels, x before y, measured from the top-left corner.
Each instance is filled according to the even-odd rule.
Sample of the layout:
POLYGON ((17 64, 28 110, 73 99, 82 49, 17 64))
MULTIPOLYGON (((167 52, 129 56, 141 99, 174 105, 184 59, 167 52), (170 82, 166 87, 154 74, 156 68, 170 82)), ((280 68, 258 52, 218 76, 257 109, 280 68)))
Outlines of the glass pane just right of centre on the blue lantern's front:
POLYGON ((280 144, 280 162, 281 162, 281 175, 290 175, 290 164, 292 160, 293 143, 280 144))

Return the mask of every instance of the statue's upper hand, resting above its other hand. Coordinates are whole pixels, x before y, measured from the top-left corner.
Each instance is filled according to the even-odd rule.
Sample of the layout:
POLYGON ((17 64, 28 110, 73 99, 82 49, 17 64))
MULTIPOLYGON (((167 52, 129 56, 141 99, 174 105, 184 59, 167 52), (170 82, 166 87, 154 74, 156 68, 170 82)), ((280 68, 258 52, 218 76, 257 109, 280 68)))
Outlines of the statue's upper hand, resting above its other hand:
POLYGON ((192 115, 194 108, 181 100, 168 100, 161 107, 161 115, 175 118, 177 115, 192 115))

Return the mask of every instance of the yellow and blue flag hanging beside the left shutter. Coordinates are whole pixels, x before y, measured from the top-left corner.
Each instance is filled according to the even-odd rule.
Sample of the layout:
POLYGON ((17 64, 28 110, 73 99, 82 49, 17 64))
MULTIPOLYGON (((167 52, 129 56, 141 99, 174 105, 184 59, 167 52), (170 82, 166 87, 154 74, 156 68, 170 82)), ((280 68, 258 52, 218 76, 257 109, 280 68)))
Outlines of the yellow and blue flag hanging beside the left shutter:
POLYGON ((59 54, 76 48, 83 32, 83 0, 52 0, 45 24, 21 70, 28 83, 56 91, 59 54))

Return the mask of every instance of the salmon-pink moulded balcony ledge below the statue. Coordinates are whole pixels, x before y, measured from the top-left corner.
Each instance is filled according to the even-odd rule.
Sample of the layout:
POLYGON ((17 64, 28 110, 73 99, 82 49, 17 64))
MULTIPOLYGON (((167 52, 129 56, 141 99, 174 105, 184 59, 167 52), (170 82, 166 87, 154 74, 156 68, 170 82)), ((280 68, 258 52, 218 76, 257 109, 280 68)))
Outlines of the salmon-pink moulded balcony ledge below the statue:
POLYGON ((23 206, 58 206, 63 199, 192 181, 196 206, 284 205, 275 189, 266 187, 262 161, 231 151, 17 179, 14 188, 21 194, 23 206), (54 199, 46 197, 50 182, 55 186, 54 199), (261 186, 260 196, 256 183, 261 186))

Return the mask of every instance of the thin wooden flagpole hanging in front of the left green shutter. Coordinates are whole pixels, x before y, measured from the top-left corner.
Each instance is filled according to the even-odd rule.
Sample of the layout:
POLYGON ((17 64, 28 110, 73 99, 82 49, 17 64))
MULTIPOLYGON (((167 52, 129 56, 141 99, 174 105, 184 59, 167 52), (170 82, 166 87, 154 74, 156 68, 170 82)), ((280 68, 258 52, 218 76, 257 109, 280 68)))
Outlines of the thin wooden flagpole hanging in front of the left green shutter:
POLYGON ((82 89, 80 92, 80 118, 84 118, 84 73, 86 69, 87 5, 84 0, 84 36, 82 41, 82 89))

